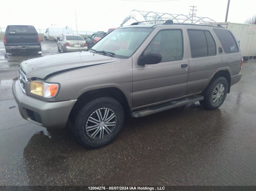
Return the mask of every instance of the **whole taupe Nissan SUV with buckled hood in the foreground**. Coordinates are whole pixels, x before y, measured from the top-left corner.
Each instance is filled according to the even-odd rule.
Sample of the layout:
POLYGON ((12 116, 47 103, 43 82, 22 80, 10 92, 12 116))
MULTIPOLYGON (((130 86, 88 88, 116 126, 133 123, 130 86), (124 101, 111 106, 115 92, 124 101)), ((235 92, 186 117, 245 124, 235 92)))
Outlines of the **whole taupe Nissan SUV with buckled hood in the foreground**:
POLYGON ((81 145, 98 148, 118 136, 125 117, 197 101, 217 109, 241 79, 242 54, 230 30, 136 24, 87 51, 22 62, 12 87, 22 117, 46 128, 68 124, 81 145))

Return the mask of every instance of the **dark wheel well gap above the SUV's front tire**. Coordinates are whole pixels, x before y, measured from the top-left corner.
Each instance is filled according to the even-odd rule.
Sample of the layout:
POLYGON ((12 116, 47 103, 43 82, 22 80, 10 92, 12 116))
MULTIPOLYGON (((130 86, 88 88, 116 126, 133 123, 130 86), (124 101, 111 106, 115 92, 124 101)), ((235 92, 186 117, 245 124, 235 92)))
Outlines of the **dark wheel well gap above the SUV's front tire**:
POLYGON ((96 99, 98 97, 112 97, 115 100, 117 100, 119 103, 121 103, 122 107, 125 111, 125 118, 131 118, 130 116, 130 106, 127 97, 125 94, 116 87, 107 87, 107 88, 99 88, 94 90, 88 90, 84 93, 82 93, 73 108, 71 109, 71 112, 69 114, 69 118, 74 118, 78 112, 81 110, 83 106, 85 106, 86 103, 90 102, 93 99, 96 99))

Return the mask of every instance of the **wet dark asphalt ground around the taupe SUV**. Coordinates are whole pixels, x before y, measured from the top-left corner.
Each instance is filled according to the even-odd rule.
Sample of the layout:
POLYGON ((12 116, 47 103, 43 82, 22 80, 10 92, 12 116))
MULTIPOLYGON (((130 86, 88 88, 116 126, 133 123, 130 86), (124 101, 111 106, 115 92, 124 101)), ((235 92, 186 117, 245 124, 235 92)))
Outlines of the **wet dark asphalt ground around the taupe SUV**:
MULTIPOLYGON (((57 54, 56 42, 42 52, 57 54)), ((114 142, 88 150, 9 109, 18 64, 39 55, 4 54, 0 40, 0 186, 256 185, 256 59, 219 109, 196 102, 127 120, 114 142)))

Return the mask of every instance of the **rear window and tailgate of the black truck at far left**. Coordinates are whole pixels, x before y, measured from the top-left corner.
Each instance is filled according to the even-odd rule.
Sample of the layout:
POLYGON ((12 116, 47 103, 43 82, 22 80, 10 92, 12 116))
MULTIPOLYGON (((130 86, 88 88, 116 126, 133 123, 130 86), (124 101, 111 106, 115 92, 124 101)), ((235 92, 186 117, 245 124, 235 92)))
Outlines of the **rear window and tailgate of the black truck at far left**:
POLYGON ((33 26, 9 26, 5 33, 7 44, 10 46, 38 43, 37 36, 33 26))

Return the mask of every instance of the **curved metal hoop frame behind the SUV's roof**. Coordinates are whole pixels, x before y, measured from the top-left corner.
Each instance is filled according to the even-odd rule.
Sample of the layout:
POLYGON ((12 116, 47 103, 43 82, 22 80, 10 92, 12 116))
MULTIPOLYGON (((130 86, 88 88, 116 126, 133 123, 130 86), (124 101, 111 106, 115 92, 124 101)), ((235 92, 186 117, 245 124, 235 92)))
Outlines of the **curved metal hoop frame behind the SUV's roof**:
POLYGON ((192 17, 192 15, 158 13, 158 12, 153 12, 153 11, 138 11, 138 10, 132 10, 131 12, 133 12, 133 11, 141 14, 145 18, 145 21, 171 19, 171 20, 173 20, 174 23, 196 24, 198 22, 202 22, 202 23, 215 22, 211 18, 197 17, 195 15, 193 15, 193 17, 192 17), (193 18, 193 20, 192 20, 192 18, 193 18))

